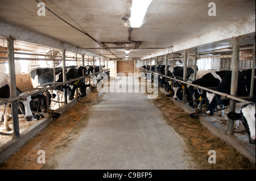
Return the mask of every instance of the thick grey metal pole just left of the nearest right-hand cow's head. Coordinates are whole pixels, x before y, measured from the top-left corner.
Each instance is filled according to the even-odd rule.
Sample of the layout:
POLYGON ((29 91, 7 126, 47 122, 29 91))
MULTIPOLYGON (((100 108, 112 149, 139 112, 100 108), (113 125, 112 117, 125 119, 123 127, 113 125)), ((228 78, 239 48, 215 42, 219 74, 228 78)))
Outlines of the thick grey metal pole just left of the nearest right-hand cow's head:
MULTIPOLYGON (((239 50, 240 50, 241 37, 235 37, 233 39, 233 58, 232 58, 232 75, 231 75, 231 88, 230 95, 237 95, 238 85, 238 65, 239 65, 239 50)), ((236 111, 236 100, 230 99, 229 112, 236 111)), ((234 121, 228 119, 228 130, 227 134, 234 134, 234 121)))

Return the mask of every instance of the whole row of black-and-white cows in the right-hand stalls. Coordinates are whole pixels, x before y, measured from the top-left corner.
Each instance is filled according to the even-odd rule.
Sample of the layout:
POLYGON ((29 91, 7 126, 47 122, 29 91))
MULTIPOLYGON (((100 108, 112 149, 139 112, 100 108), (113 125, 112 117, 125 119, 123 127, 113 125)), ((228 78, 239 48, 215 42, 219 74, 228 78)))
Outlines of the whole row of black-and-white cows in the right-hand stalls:
MULTIPOLYGON (((150 65, 142 66, 142 68, 150 70, 150 65)), ((179 81, 163 77, 162 75, 165 75, 166 71, 165 65, 158 65, 157 67, 151 65, 151 71, 155 70, 157 70, 158 74, 161 74, 158 76, 159 87, 164 87, 167 92, 170 92, 170 94, 167 94, 166 96, 173 96, 174 100, 183 100, 183 91, 185 91, 184 99, 189 103, 189 106, 195 107, 195 104, 199 105, 201 100, 201 103, 206 106, 205 114, 208 116, 212 116, 214 111, 217 110, 217 107, 224 108, 229 105, 229 99, 222 100, 221 95, 205 90, 203 91, 203 94, 201 94, 201 90, 194 86, 187 86, 179 81)), ((250 94, 251 70, 252 69, 238 71, 238 97, 249 96, 250 94)), ((151 73, 148 72, 148 74, 151 73)), ((183 80, 183 66, 172 68, 168 65, 167 76, 183 80)), ((231 77, 232 71, 205 71, 198 70, 197 68, 195 70, 193 66, 187 67, 187 82, 226 94, 230 94, 231 77), (194 73, 196 73, 196 78, 194 81, 190 81, 189 79, 191 79, 190 77, 194 73)), ((154 81, 154 76, 151 76, 151 81, 154 81)), ((246 132, 249 134, 249 142, 255 144, 255 83, 253 87, 253 98, 250 99, 250 101, 254 103, 244 104, 240 108, 240 112, 230 112, 227 116, 232 120, 236 120, 234 123, 235 128, 238 128, 239 120, 241 120, 246 132)), ((222 114, 223 113, 224 112, 222 111, 222 114)))

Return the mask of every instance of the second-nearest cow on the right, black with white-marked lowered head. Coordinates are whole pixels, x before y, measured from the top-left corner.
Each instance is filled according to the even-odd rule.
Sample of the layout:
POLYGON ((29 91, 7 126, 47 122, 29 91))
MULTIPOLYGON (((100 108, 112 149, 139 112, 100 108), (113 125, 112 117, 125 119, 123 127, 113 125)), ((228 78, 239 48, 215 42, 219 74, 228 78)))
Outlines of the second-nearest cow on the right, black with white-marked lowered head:
MULTIPOLYGON (((216 91, 223 92, 226 94, 230 94, 231 87, 231 76, 232 73, 226 75, 221 83, 216 87, 216 91)), ((247 87, 245 85, 245 75, 239 71, 238 72, 238 86, 237 86, 237 96, 248 96, 249 92, 247 91, 247 87)), ((207 103, 207 111, 205 112, 207 115, 213 115, 217 106, 227 106, 229 105, 229 100, 222 100, 221 95, 214 94, 212 92, 207 92, 205 96, 205 103, 207 103)))

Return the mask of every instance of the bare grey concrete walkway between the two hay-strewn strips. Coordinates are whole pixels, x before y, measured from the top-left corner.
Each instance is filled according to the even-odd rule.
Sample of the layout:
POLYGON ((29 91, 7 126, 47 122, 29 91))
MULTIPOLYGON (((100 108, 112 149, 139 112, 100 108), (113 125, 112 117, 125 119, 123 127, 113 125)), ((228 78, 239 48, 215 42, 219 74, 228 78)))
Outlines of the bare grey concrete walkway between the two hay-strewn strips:
POLYGON ((183 139, 144 93, 106 92, 82 121, 43 169, 191 169, 183 139))

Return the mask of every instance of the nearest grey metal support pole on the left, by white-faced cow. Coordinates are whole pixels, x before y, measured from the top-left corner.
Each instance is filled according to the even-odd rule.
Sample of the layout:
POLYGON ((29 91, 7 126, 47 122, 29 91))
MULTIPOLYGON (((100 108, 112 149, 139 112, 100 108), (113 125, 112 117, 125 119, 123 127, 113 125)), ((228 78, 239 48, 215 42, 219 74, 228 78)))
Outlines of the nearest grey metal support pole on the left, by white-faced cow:
MULTIPOLYGON (((9 37, 7 39, 10 98, 14 98, 17 96, 13 42, 14 42, 13 38, 9 37)), ((13 133, 14 133, 13 135, 14 135, 14 138, 19 138, 18 105, 17 105, 17 102, 15 101, 11 102, 11 114, 13 115, 13 133)))

